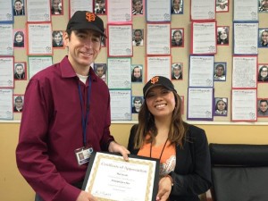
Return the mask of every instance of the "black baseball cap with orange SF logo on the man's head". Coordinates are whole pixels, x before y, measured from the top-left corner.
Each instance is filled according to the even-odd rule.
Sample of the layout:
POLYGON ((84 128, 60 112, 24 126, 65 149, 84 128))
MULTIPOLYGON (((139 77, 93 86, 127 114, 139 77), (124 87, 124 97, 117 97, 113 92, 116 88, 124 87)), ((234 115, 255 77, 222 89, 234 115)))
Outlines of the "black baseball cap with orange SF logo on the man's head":
POLYGON ((105 38, 104 21, 95 13, 88 11, 77 11, 73 13, 67 24, 66 30, 93 29, 99 32, 105 38))

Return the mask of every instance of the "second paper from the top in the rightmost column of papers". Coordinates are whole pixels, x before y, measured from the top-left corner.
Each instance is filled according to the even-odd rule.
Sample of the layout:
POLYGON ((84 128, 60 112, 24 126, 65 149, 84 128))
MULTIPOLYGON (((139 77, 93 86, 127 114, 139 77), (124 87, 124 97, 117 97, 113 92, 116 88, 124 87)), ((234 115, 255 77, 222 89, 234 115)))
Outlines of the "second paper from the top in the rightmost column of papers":
POLYGON ((258 54, 258 23, 233 23, 233 53, 258 54))

